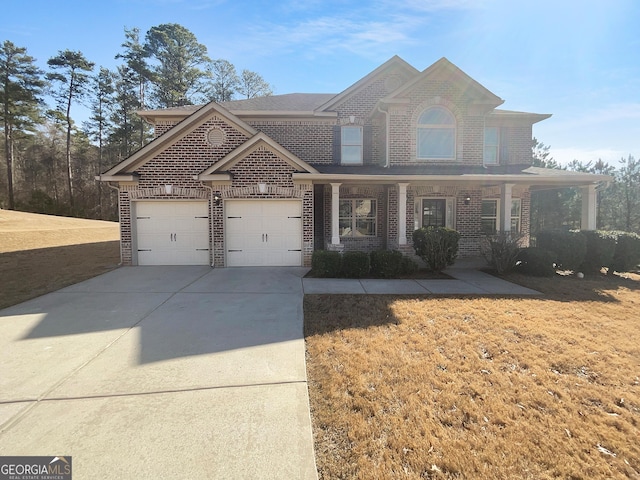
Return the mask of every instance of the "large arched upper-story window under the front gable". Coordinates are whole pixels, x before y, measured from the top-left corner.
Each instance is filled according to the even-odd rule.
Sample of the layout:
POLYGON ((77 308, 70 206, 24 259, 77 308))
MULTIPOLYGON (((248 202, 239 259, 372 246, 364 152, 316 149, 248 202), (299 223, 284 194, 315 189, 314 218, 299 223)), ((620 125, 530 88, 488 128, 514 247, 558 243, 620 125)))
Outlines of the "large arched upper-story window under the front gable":
POLYGON ((418 118, 419 159, 452 160, 456 156, 456 120, 447 109, 431 107, 418 118))

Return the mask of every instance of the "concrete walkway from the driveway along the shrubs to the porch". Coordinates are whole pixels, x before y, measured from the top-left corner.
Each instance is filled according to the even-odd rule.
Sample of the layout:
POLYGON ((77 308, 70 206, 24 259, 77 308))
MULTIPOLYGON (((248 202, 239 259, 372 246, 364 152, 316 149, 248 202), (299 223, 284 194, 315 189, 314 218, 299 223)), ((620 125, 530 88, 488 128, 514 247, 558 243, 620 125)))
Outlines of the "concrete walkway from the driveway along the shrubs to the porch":
POLYGON ((484 272, 450 268, 451 280, 384 280, 345 278, 303 278, 305 294, 410 294, 410 295, 540 295, 484 272))

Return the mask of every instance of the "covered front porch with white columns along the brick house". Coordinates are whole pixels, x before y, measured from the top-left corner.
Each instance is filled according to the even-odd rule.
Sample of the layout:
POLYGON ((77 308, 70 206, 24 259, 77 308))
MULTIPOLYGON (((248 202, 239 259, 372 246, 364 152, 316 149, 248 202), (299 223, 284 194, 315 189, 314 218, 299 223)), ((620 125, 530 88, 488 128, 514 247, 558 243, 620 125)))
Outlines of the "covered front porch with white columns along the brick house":
MULTIPOLYGON (((528 245, 528 184, 341 180, 346 181, 315 182, 316 250, 386 249, 412 255, 412 233, 423 226, 460 232, 461 258, 480 255, 481 239, 496 232, 517 232, 528 245)), ((596 185, 581 189, 582 228, 594 230, 596 185)))

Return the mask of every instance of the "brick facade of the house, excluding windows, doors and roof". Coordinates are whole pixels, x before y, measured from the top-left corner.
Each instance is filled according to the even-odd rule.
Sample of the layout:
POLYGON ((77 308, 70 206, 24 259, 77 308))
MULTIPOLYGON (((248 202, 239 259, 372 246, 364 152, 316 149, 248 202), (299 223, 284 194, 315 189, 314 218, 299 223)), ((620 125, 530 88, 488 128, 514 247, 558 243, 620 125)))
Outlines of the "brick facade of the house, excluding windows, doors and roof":
MULTIPOLYGON (((391 61, 390 61, 391 62, 391 61)), ((421 208, 418 202, 422 198, 445 198, 452 205, 455 218, 452 224, 462 237, 460 256, 480 253, 481 205, 483 198, 499 198, 500 187, 486 187, 479 183, 448 179, 439 181, 412 181, 410 176, 398 180, 371 182, 359 179, 357 172, 353 180, 344 178, 333 180, 314 177, 313 180, 295 179, 297 174, 309 173, 314 167, 327 167, 335 164, 334 134, 339 125, 361 125, 371 135, 370 155, 366 156, 363 167, 380 168, 386 165, 397 167, 428 167, 433 165, 482 166, 484 154, 485 126, 500 128, 500 164, 523 165, 531 163, 532 128, 531 121, 519 119, 511 122, 505 115, 492 115, 474 103, 468 84, 455 80, 455 75, 437 71, 431 76, 413 84, 407 82, 416 78, 406 66, 391 62, 388 68, 378 71, 377 75, 365 77, 337 96, 335 104, 322 115, 300 114, 269 117, 264 115, 228 117, 227 113, 217 111, 208 118, 202 118, 200 124, 190 129, 175 142, 161 151, 151 150, 149 158, 136 164, 135 169, 127 172, 136 177, 133 181, 120 184, 120 224, 123 264, 135 263, 135 202, 139 200, 187 200, 207 199, 210 211, 210 263, 216 267, 225 266, 225 201, 231 199, 296 199, 302 202, 303 210, 303 265, 309 266, 315 248, 327 248, 332 239, 332 195, 329 183, 341 183, 341 199, 375 199, 377 201, 377 219, 375 236, 342 237, 345 250, 400 249, 412 253, 412 232, 419 226, 420 217, 416 212, 421 208), (453 79, 453 80, 452 80, 453 79), (411 85, 402 90, 401 98, 391 95, 404 84, 411 85), (382 101, 382 103, 381 103, 382 101), (386 103, 385 103, 386 102, 386 103), (381 108, 381 106, 383 108, 381 108), (417 158, 417 123, 420 115, 431 106, 442 106, 455 118, 455 158, 451 160, 423 160, 417 158), (245 127, 238 127, 244 124, 245 127), (266 134, 284 150, 306 163, 309 168, 291 158, 282 150, 262 144, 249 149, 234 161, 224 160, 241 147, 253 134, 247 134, 252 128, 266 134), (214 132, 215 135, 211 135, 214 132), (219 143, 211 139, 220 139, 219 143), (388 158, 387 158, 388 152, 388 158), (226 165, 221 174, 227 180, 202 181, 199 176, 210 167, 226 165), (406 183, 406 245, 398 240, 400 199, 398 183, 406 183), (166 185, 171 185, 167 193, 166 185), (259 187, 262 185, 262 188, 259 187), (321 197, 315 202, 322 212, 314 215, 314 186, 321 197), (222 198, 216 202, 214 196, 222 198), (468 200, 467 200, 468 199, 468 200), (314 219, 320 225, 314 226, 314 219), (314 238, 315 231, 318 238, 314 238)), ((497 98, 497 97, 496 97, 497 98)), ((184 119, 189 112, 183 112, 184 119)), ((204 110, 202 110, 204 111, 204 110)), ((172 114, 173 115, 173 114, 172 114)), ((195 114, 194 114, 195 115, 195 114)), ((204 115, 204 114, 203 114, 204 115)), ((240 113, 238 113, 240 115, 240 113)), ((249 114, 247 114, 249 115, 249 114)), ((176 118, 160 118, 155 122, 155 141, 167 138, 175 129, 182 128, 180 112, 176 118)), ((167 118, 167 117, 165 117, 167 118)), ((368 139, 366 140, 368 141, 368 139)), ((240 154, 239 154, 240 155, 240 154)), ((353 168, 353 167, 351 167, 353 168)), ((368 174, 370 175, 370 174, 368 174)), ((499 180, 493 185, 499 185, 499 180)), ((521 231, 529 233, 530 193, 528 187, 515 187, 513 198, 521 199, 521 231)))

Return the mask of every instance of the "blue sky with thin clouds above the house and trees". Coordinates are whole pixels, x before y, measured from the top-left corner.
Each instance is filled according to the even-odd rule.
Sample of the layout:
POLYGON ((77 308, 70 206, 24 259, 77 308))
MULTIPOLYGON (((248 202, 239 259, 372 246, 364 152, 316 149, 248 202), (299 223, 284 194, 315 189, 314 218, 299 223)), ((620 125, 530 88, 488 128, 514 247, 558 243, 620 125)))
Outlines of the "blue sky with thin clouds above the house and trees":
POLYGON ((552 113, 534 135, 556 160, 640 156, 636 0, 24 0, 3 5, 0 41, 42 68, 64 49, 113 68, 125 27, 162 23, 276 94, 338 93, 393 55, 419 70, 444 56, 502 108, 552 113))

